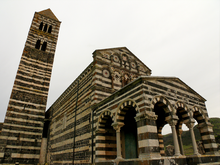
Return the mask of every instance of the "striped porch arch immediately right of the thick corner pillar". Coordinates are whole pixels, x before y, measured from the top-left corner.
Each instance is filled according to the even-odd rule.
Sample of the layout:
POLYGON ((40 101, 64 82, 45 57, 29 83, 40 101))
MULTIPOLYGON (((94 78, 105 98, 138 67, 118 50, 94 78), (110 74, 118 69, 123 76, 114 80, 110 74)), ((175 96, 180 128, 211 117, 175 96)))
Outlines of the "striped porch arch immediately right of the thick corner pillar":
POLYGON ((175 113, 175 111, 173 110, 173 108, 172 108, 170 102, 169 102, 168 99, 167 99, 165 96, 163 96, 163 95, 157 95, 157 96, 155 96, 155 97, 152 99, 152 101, 151 101, 151 109, 154 109, 154 106, 155 106, 156 103, 158 103, 158 102, 161 102, 161 103, 163 103, 164 105, 167 106, 167 108, 164 109, 166 113, 173 113, 173 114, 175 113))

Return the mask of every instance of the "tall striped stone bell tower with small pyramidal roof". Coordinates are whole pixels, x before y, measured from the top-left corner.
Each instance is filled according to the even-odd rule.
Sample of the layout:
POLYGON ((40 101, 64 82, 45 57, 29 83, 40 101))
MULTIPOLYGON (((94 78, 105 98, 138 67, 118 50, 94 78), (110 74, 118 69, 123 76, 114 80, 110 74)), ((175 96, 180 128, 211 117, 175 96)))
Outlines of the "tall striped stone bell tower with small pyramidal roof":
POLYGON ((60 24, 50 9, 34 14, 0 135, 0 164, 39 162, 60 24))

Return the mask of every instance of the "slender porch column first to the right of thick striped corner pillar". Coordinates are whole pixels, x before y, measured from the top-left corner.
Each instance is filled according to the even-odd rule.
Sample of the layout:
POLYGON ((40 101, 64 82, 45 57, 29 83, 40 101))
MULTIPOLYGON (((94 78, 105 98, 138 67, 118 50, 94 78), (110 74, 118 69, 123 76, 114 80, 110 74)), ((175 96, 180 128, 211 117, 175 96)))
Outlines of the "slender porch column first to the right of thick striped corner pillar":
POLYGON ((170 119, 168 121, 169 125, 172 128, 172 134, 173 134, 173 143, 174 143, 174 149, 175 149, 175 156, 180 156, 180 148, 179 148, 179 143, 177 140, 177 134, 176 134, 176 124, 177 124, 177 120, 176 119, 170 119))

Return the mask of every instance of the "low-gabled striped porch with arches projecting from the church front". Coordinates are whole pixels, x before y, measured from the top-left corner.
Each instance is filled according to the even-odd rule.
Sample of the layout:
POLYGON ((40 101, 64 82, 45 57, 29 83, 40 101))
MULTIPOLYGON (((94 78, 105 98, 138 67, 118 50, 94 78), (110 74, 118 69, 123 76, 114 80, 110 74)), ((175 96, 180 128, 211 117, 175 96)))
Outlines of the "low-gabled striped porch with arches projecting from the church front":
MULTIPOLYGON (((202 141, 207 155, 218 155, 211 123, 205 107, 205 99, 175 77, 142 76, 110 97, 93 106, 94 128, 96 135, 96 161, 108 160, 106 155, 105 132, 106 120, 124 126, 124 116, 135 109, 138 136, 138 158, 158 158, 164 156, 161 130, 165 124, 175 121, 177 135, 181 135, 182 125, 187 126, 194 120, 198 122, 202 141), (108 113, 106 113, 108 112, 108 113), (111 121, 109 120, 109 121, 111 121), (104 150, 104 151, 103 151, 104 150)), ((171 124, 170 124, 171 125, 171 124)), ((189 126, 188 126, 189 127, 189 126)), ((109 129, 109 128, 108 128, 109 129)), ((115 133, 115 132, 113 132, 115 133)), ((180 139, 178 139, 180 140, 180 139)), ((181 143, 178 144, 181 148, 181 143)), ((123 145, 122 155, 123 155, 123 145)), ((126 150, 126 148, 125 148, 126 150)), ((183 152, 181 152, 184 154, 183 152)), ((116 157, 115 153, 112 153, 116 157)), ((180 154, 181 155, 181 154, 180 154)))

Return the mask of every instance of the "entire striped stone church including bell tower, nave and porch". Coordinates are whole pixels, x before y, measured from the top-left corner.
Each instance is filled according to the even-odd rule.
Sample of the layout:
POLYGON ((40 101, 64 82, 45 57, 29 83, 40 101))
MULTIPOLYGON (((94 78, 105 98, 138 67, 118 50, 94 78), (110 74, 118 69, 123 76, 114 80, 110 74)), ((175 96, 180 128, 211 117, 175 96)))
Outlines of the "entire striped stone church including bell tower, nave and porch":
POLYGON ((151 76, 128 48, 100 49, 46 109, 61 22, 35 12, 0 134, 4 165, 199 165, 220 162, 205 99, 177 77, 151 76), (200 155, 193 127, 205 150, 200 155), (175 154, 165 155, 171 127, 175 154), (184 154, 182 126, 193 155, 184 154))

